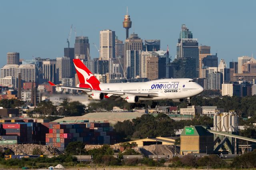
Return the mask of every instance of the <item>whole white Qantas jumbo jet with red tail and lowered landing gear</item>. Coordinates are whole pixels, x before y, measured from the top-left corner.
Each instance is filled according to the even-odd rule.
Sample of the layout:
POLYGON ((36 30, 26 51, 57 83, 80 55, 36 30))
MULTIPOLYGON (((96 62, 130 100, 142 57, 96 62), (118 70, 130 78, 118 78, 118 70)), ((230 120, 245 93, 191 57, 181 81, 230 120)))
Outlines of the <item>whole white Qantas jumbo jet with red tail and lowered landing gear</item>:
POLYGON ((151 108, 155 108, 156 101, 168 99, 175 102, 188 99, 188 105, 190 105, 190 97, 204 91, 204 88, 193 79, 158 79, 141 83, 100 83, 80 59, 73 59, 73 62, 80 84, 76 87, 69 87, 55 85, 50 81, 49 83, 63 89, 83 91, 94 100, 104 98, 116 101, 125 100, 131 103, 132 109, 145 107, 143 101, 152 101, 151 108))

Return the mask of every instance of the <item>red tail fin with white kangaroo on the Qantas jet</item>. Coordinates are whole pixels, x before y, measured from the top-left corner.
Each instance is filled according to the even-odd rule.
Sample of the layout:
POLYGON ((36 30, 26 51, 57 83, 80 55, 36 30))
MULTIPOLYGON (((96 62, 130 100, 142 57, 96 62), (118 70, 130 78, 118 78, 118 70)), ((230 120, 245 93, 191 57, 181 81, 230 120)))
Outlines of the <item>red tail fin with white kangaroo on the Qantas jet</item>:
POLYGON ((92 72, 84 65, 84 63, 80 59, 73 59, 73 62, 76 67, 76 73, 80 84, 89 85, 91 89, 98 89, 100 81, 94 77, 92 72))

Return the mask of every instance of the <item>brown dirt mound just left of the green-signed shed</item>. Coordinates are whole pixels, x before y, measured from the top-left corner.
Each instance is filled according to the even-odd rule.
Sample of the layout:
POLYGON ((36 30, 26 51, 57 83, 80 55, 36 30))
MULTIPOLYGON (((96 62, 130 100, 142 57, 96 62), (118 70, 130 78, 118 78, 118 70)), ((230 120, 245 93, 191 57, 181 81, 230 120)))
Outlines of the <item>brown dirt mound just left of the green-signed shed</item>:
MULTIPOLYGON (((175 154, 175 146, 174 145, 164 145, 164 144, 152 144, 149 146, 142 146, 134 148, 135 151, 140 152, 144 155, 169 155, 172 157, 175 154)), ((176 146, 176 154, 180 153, 180 147, 176 146)))

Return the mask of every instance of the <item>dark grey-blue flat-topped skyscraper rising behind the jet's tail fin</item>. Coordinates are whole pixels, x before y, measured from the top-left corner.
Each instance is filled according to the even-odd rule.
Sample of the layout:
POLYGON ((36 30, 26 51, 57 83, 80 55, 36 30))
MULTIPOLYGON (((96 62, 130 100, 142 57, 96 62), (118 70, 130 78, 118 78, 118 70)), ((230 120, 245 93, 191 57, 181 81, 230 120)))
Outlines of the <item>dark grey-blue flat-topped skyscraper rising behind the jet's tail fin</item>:
MULTIPOLYGON (((90 43, 88 37, 76 37, 74 57, 79 59, 89 59, 90 43)), ((65 56, 66 57, 66 56, 65 56)))

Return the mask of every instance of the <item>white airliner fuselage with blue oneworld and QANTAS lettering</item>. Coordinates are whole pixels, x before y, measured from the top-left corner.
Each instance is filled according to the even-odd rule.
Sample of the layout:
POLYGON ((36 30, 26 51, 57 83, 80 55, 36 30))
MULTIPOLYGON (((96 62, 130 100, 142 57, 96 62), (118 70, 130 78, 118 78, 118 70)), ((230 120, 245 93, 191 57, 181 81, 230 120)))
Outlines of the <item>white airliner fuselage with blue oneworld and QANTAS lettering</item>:
POLYGON ((204 88, 193 79, 158 79, 140 83, 100 83, 102 91, 145 93, 158 97, 140 97, 140 101, 184 99, 198 95, 204 88))

